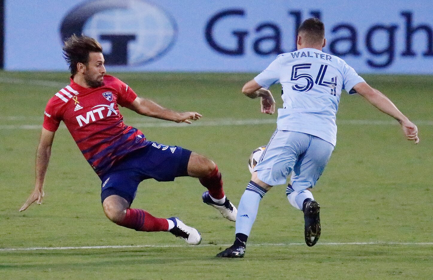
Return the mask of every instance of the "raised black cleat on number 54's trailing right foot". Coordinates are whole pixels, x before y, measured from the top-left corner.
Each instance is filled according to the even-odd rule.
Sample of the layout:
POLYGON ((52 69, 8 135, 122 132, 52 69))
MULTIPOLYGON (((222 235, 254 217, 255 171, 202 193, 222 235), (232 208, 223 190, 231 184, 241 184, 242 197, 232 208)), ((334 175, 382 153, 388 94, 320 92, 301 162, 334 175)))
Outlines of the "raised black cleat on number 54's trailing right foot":
POLYGON ((304 202, 304 221, 305 221, 305 243, 311 247, 317 243, 320 237, 320 205, 315 200, 304 202))

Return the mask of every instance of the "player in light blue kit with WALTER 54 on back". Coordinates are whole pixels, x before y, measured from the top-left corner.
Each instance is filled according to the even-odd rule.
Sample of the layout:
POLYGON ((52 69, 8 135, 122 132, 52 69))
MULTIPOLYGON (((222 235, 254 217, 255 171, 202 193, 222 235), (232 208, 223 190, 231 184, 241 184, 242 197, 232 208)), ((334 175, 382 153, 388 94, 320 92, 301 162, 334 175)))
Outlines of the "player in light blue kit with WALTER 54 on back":
POLYGON ((268 88, 280 83, 284 108, 278 109, 277 130, 254 168, 239 202, 234 244, 217 257, 243 257, 259 202, 275 185, 285 184, 293 171, 287 196, 304 212, 305 242, 320 237, 319 204, 310 190, 323 172, 336 144, 336 113, 341 90, 358 93, 400 124, 408 140, 419 142, 417 127, 381 92, 370 87, 339 57, 322 52, 326 44, 323 23, 305 20, 298 29, 297 51, 277 56, 242 92, 261 98, 262 113, 273 114, 275 101, 268 88))

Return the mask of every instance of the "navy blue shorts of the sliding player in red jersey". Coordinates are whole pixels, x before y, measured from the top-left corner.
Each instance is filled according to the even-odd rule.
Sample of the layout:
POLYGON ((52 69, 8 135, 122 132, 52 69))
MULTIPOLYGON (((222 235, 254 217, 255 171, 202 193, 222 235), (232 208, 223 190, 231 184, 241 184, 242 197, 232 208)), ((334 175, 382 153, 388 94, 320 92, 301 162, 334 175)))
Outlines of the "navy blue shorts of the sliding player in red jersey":
POLYGON ((174 178, 187 176, 191 151, 178 147, 150 142, 126 155, 100 177, 101 202, 116 194, 125 198, 131 205, 141 181, 153 178, 156 181, 174 181, 174 178))

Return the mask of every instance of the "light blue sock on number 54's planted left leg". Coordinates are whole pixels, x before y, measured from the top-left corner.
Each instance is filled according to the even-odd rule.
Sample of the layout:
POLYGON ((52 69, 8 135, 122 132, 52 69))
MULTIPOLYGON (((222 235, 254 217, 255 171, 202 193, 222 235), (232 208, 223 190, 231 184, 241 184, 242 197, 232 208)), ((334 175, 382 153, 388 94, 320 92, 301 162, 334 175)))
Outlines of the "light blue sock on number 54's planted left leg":
POLYGON ((259 210, 259 203, 266 192, 258 184, 249 181, 239 202, 238 214, 236 216, 236 233, 249 235, 252 224, 254 224, 255 217, 257 216, 257 211, 259 210))

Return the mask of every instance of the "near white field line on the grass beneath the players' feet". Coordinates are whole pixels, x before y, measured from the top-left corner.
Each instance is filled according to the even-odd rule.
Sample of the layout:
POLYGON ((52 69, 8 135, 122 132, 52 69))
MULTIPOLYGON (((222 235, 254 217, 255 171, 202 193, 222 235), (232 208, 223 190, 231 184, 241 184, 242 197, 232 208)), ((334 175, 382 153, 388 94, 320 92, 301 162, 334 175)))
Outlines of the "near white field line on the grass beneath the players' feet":
MULTIPOLYGON (((203 244, 191 245, 109 245, 109 246, 79 246, 79 247, 29 247, 29 248, 2 248, 4 251, 35 251, 35 250, 76 250, 76 249, 118 249, 118 248, 178 248, 178 247, 209 247, 209 246, 230 246, 232 244, 203 244)), ((304 243, 261 243, 249 244, 248 246, 300 246, 304 243)), ((344 246, 344 245, 414 245, 414 246, 433 246, 433 242, 325 242, 318 245, 344 246)))

